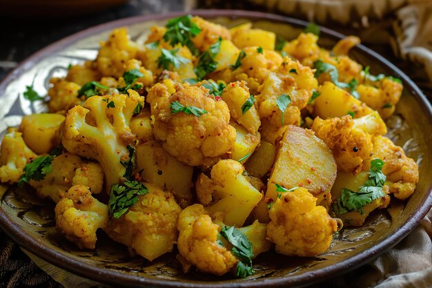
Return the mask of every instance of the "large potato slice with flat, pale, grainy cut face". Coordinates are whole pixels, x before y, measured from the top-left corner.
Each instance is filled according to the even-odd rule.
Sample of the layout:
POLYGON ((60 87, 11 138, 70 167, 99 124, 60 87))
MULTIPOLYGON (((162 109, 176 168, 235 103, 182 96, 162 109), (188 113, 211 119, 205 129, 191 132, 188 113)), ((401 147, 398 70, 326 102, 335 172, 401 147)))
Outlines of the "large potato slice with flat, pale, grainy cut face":
POLYGON ((302 186, 320 203, 336 178, 336 162, 330 149, 313 131, 288 126, 268 180, 266 197, 275 200, 275 184, 291 189, 302 186))

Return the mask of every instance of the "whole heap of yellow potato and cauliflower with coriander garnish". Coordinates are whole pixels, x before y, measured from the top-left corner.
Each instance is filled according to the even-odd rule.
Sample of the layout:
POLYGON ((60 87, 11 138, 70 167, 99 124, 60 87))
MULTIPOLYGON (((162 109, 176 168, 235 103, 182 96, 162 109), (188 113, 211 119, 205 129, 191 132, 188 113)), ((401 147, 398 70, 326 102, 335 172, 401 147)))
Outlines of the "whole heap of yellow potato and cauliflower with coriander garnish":
POLYGON ((1 143, 0 180, 56 203, 57 230, 95 249, 97 230, 184 272, 253 275, 253 259, 324 253, 332 235, 415 191, 418 166, 385 137, 402 81, 373 75, 346 37, 317 46, 191 15, 126 28, 97 58, 24 97, 1 143), (30 188, 31 187, 31 188, 30 188))

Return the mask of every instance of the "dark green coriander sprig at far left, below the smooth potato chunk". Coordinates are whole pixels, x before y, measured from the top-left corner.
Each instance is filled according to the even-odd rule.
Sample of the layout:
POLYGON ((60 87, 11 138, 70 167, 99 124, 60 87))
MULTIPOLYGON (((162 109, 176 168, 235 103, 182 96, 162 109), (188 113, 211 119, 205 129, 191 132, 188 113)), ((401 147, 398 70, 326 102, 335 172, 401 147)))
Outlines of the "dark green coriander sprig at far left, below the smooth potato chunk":
POLYGON ((41 181, 52 171, 52 160, 63 153, 63 146, 60 144, 49 155, 39 156, 24 166, 24 173, 19 178, 18 186, 30 180, 41 181))

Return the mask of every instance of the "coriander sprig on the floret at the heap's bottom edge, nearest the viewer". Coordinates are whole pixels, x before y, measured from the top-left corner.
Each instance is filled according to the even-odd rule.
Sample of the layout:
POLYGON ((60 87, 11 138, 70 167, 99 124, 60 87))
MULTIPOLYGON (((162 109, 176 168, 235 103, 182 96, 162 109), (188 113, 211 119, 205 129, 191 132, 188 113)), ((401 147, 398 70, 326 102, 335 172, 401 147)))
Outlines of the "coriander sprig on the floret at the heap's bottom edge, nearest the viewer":
POLYGON ((231 252, 233 252, 234 256, 239 260, 235 275, 239 278, 253 275, 253 249, 252 243, 248 240, 248 237, 233 226, 223 227, 220 234, 228 240, 228 242, 233 244, 231 252))

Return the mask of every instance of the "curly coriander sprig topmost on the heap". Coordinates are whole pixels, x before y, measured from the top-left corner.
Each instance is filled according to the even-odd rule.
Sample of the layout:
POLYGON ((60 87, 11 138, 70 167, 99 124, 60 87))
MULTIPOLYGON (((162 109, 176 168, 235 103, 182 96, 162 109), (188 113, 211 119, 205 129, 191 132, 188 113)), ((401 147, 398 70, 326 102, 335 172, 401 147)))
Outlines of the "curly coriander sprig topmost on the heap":
POLYGON ((171 46, 181 44, 181 46, 187 46, 193 55, 199 54, 199 50, 193 45, 191 39, 197 36, 201 29, 193 23, 192 15, 170 19, 166 23, 166 28, 164 40, 169 42, 171 46))

